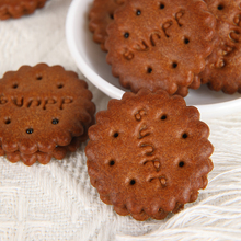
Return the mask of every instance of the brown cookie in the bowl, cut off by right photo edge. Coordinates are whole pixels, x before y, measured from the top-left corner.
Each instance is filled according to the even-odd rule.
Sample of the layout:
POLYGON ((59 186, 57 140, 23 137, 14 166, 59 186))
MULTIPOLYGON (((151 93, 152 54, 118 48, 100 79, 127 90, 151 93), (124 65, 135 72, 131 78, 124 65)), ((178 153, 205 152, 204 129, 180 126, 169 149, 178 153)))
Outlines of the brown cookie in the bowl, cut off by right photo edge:
POLYGON ((211 90, 241 93, 241 0, 205 1, 217 19, 217 36, 199 78, 211 90))

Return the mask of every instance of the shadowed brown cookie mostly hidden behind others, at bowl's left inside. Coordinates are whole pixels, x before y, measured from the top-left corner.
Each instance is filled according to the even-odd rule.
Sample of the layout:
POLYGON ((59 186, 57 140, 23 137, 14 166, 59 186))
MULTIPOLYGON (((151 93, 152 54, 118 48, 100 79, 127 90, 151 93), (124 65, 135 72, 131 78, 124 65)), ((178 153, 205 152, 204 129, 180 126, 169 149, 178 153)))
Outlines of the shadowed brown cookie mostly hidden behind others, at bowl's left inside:
POLYGON ((106 27, 113 22, 115 10, 123 5, 125 1, 126 0, 94 0, 93 2, 89 14, 89 28, 93 32, 93 41, 101 44, 101 48, 104 51, 106 51, 104 47, 107 37, 106 27))

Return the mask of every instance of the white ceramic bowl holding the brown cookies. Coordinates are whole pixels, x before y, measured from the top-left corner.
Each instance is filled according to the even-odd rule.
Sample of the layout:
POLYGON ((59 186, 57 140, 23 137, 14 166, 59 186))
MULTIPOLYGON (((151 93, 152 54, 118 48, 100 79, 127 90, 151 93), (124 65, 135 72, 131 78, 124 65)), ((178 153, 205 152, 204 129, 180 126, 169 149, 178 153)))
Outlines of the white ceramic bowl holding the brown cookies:
MULTIPOLYGON (((66 36, 70 53, 80 71, 102 92, 111 97, 120 99, 125 89, 112 76, 111 66, 105 61, 106 54, 92 41, 88 28, 88 13, 93 0, 73 0, 70 4, 66 36)), ((187 105, 196 106, 202 119, 216 118, 241 111, 241 94, 228 95, 208 90, 203 85, 190 90, 185 97, 187 105)))

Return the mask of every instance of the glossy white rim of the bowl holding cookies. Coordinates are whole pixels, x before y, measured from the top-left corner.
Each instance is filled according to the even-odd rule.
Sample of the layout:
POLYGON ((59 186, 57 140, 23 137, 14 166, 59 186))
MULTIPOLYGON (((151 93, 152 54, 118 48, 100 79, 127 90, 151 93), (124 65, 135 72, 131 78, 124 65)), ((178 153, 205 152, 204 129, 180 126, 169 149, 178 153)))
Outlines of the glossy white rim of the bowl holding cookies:
MULTIPOLYGON (((96 72, 94 72, 84 59, 81 57, 81 54, 77 47, 77 39, 74 38, 74 19, 78 14, 78 9, 83 4, 82 1, 73 0, 70 3, 67 18, 66 18, 66 38, 67 44, 70 50, 72 58, 74 59, 78 68, 80 71, 85 76, 85 78, 92 82, 99 90, 103 93, 108 95, 112 99, 120 100, 125 91, 114 87, 113 84, 108 83, 102 77, 100 77, 96 72)), ((223 115, 229 115, 234 112, 240 111, 241 108, 241 95, 236 100, 225 101, 220 103, 214 104, 200 104, 200 105, 193 105, 198 108, 200 112, 202 118, 214 118, 220 117, 223 115)))

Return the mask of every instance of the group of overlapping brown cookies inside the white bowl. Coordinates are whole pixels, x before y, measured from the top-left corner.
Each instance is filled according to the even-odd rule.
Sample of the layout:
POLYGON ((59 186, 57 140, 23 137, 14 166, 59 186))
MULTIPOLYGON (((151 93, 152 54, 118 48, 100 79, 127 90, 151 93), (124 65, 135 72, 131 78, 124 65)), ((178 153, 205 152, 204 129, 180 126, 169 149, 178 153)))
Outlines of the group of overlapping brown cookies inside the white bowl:
POLYGON ((90 30, 133 92, 241 93, 241 0, 95 0, 90 30))

